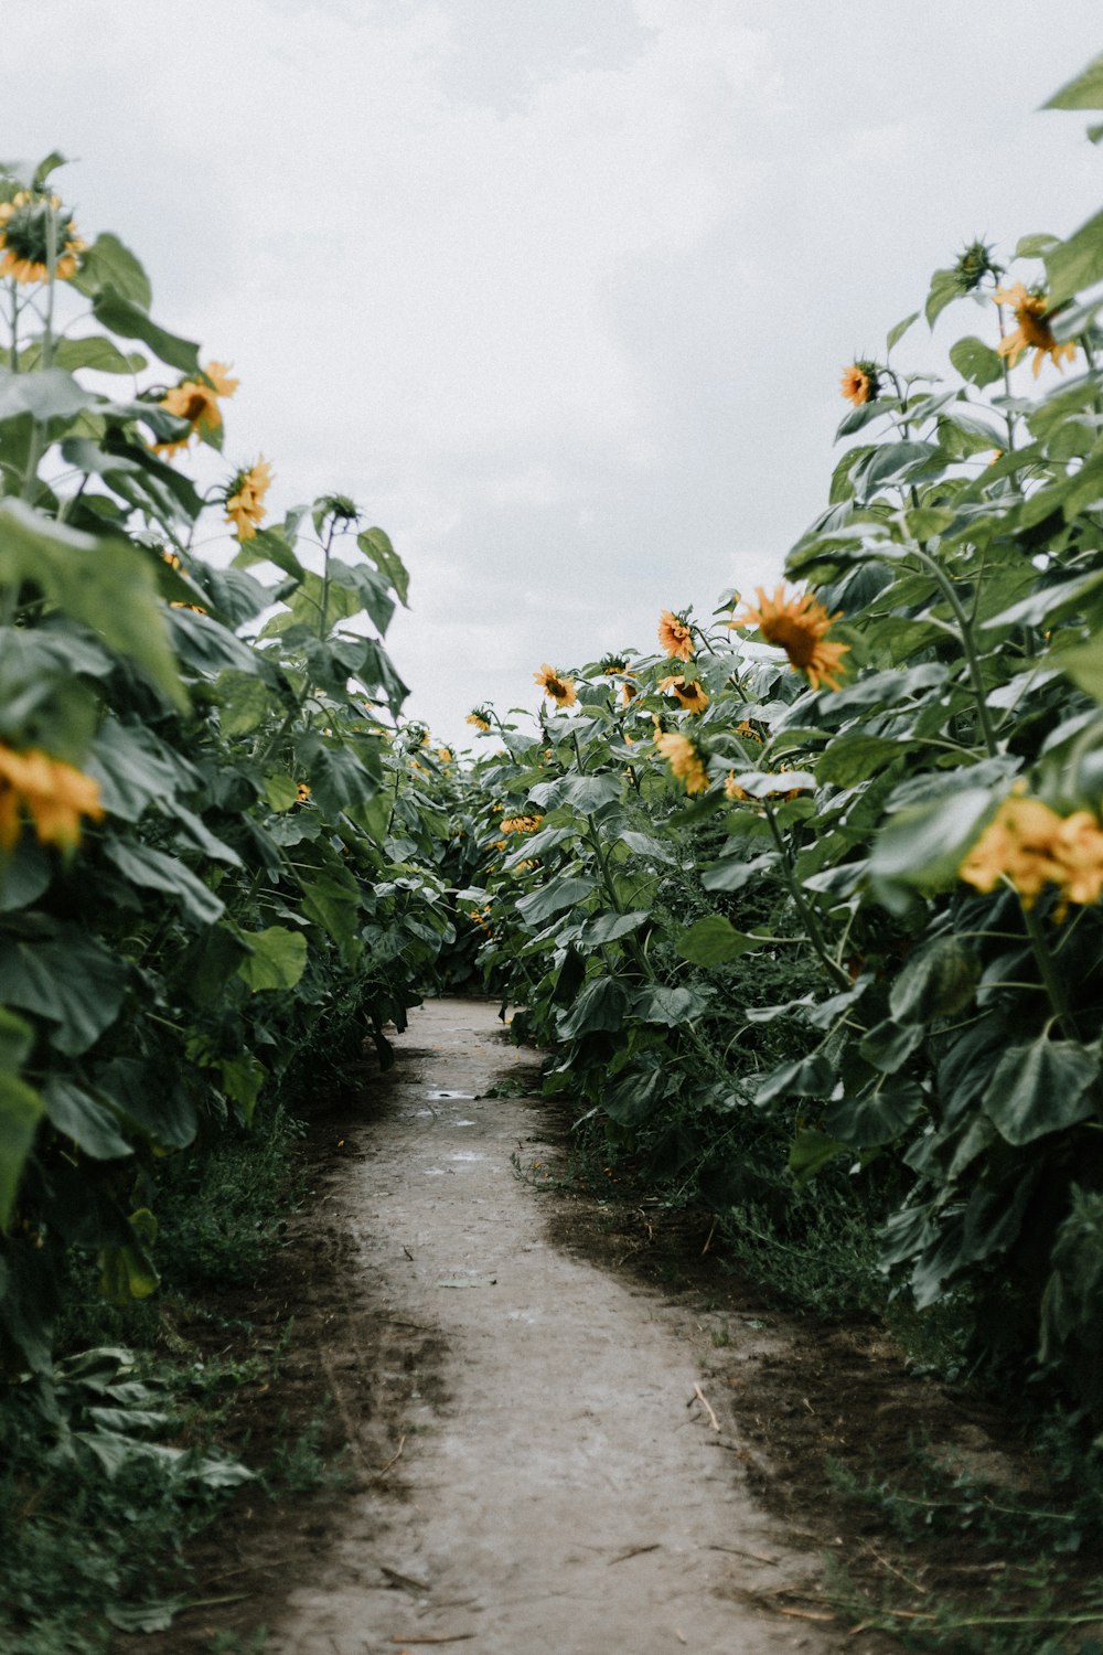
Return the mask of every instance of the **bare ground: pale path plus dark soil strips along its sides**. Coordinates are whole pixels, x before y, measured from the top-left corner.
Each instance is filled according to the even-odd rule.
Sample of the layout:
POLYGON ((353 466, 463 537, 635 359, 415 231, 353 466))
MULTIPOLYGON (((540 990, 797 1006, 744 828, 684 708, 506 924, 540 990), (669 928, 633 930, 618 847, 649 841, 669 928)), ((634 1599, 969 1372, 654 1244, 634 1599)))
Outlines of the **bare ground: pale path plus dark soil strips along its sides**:
POLYGON ((764 1306, 704 1213, 534 1187, 561 1117, 521 1096, 536 1063, 493 1006, 430 1003, 397 1051, 314 1115, 311 1202, 218 1306, 251 1349, 294 1324, 236 1400, 250 1463, 298 1435, 341 1475, 241 1490, 192 1552, 193 1607, 119 1650, 248 1650, 261 1629, 266 1655, 898 1648, 828 1604, 825 1556, 893 1564, 825 1458, 891 1475, 916 1433, 1000 1455, 997 1415, 873 1329, 764 1306))

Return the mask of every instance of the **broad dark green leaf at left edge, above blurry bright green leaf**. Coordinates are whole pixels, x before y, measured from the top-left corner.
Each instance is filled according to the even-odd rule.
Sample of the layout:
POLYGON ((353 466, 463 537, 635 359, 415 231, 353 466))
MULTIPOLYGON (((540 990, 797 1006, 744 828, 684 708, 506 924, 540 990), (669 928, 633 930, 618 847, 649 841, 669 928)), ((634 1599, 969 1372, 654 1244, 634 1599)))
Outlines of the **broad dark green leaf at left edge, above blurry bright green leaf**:
POLYGON ((122 1006, 126 967, 76 927, 46 942, 0 937, 0 1003, 58 1024, 53 1044, 78 1056, 109 1028, 122 1006))

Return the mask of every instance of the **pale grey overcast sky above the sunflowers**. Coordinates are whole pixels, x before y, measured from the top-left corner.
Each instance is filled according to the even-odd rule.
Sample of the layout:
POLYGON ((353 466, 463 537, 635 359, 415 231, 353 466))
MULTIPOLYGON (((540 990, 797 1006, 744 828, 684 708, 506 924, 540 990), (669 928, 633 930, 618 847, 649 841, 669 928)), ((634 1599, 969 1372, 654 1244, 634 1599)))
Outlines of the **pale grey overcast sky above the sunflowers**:
POLYGON ((0 152, 73 157, 81 232, 233 362, 276 510, 390 533, 407 713, 455 741, 779 578, 843 366, 976 235, 1096 210, 1086 118, 1037 109, 1100 50, 1098 0, 35 0, 0 152))

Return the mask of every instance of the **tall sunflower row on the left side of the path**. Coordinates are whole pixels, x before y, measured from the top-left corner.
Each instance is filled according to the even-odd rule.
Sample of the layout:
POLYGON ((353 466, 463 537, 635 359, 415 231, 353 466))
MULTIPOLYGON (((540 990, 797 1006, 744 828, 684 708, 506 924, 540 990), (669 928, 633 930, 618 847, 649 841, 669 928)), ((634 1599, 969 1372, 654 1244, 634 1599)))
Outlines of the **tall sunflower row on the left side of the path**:
POLYGON ((60 164, 0 175, 0 1380, 46 1415, 74 1269, 152 1294, 165 1168, 385 1061, 455 937, 402 561, 339 495, 270 523, 263 455, 200 488, 238 381, 60 164))

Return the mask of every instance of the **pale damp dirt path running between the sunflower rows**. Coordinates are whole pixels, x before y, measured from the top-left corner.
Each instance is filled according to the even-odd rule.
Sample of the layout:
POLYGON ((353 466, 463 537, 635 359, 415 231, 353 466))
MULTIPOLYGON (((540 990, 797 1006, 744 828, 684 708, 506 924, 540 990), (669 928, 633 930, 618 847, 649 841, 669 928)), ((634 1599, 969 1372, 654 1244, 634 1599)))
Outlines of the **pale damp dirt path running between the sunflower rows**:
MULTIPOLYGON (((344 1268, 374 1283, 392 1327, 382 1380, 405 1400, 387 1453, 379 1422, 361 1430, 342 1403, 356 1352, 326 1357, 370 1481, 316 1584, 268 1617, 266 1650, 853 1648, 781 1612, 814 1589, 819 1561, 746 1488, 731 1392, 704 1377, 708 1317, 547 1240, 511 1163, 541 1157, 539 1106, 480 1096, 523 1071, 493 1006, 427 1005, 331 1188, 329 1216, 352 1238, 344 1268)), ((724 1337, 754 1355, 751 1326, 724 1337)))

